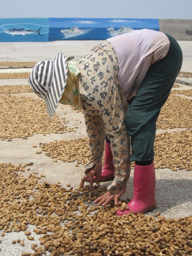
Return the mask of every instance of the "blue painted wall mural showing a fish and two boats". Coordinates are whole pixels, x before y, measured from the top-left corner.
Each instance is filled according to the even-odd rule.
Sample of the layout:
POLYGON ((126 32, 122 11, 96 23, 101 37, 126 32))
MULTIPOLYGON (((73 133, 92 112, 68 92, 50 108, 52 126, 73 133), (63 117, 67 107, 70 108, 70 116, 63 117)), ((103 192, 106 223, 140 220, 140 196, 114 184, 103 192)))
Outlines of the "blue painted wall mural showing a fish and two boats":
POLYGON ((159 21, 112 18, 7 18, 0 19, 0 42, 105 40, 142 28, 159 31, 159 21))

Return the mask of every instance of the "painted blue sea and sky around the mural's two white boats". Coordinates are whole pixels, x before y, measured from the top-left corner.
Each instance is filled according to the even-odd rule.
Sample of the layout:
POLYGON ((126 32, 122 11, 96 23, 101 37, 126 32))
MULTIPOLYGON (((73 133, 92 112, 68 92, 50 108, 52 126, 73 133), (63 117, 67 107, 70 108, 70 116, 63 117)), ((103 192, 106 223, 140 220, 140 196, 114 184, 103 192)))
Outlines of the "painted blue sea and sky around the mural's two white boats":
POLYGON ((119 27, 130 27, 134 30, 149 28, 159 31, 158 19, 106 19, 106 18, 49 18, 49 41, 55 40, 105 40, 113 36, 107 28, 118 30, 119 27), (78 27, 79 34, 65 35, 62 30, 78 27))

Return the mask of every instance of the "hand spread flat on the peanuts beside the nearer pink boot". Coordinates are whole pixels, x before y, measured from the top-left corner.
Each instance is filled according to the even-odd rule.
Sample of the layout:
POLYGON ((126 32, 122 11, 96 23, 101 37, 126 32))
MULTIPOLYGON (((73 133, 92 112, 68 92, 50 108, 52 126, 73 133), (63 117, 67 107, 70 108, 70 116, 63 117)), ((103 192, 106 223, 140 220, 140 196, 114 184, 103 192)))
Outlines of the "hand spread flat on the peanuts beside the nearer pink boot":
POLYGON ((103 196, 100 196, 99 198, 97 198, 94 203, 97 204, 98 206, 100 206, 101 204, 103 204, 103 206, 107 205, 111 200, 114 199, 115 205, 117 205, 118 203, 118 198, 120 196, 122 196, 126 191, 126 188, 123 188, 119 191, 117 191, 114 194, 111 194, 109 192, 106 192, 103 196))

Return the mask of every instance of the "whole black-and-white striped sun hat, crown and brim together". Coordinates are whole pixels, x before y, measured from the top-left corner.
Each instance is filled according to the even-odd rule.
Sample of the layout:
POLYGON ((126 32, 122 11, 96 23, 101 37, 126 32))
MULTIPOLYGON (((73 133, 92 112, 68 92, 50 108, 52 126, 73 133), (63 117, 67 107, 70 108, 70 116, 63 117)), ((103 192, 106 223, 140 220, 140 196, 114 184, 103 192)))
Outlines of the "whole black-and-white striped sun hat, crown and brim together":
POLYGON ((53 60, 37 63, 28 79, 31 90, 45 100, 50 119, 65 90, 67 82, 67 61, 59 52, 53 60))

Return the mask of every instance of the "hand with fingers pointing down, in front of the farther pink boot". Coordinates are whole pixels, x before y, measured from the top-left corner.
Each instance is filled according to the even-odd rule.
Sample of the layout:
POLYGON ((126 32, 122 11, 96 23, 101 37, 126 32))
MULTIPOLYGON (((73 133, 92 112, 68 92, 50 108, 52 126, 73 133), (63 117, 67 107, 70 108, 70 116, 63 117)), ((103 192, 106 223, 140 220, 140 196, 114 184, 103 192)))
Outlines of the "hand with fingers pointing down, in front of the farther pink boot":
MULTIPOLYGON (((101 163, 101 160, 98 163, 101 163)), ((94 167, 90 168, 88 173, 81 178, 81 183, 80 183, 81 188, 83 188, 85 180, 89 178, 89 186, 90 186, 90 190, 92 190, 94 176, 96 176, 96 180, 95 180, 96 184, 100 186, 101 172, 102 172, 102 164, 97 164, 94 167)))

